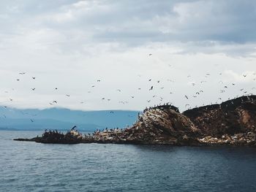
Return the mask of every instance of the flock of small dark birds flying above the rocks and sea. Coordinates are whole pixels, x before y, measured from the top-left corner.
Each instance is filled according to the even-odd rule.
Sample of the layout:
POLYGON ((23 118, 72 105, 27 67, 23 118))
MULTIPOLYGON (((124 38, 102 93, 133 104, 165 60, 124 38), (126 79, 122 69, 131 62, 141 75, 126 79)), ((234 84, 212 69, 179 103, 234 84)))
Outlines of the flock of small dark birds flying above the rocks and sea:
MULTIPOLYGON (((151 56, 151 55, 152 55, 152 54, 149 54, 149 56, 151 56)), ((170 65, 169 65, 169 66, 170 66, 170 65)), ((19 75, 26 75, 26 72, 19 72, 18 74, 19 74, 19 75)), ((253 80, 255 81, 255 80, 256 80, 256 72, 254 72, 252 75, 254 76, 254 77, 253 77, 253 80)), ((210 77, 210 76, 211 76, 210 73, 206 73, 206 74, 204 75, 205 79, 204 79, 204 80, 201 80, 199 84, 206 83, 206 82, 207 82, 207 79, 206 79, 206 78, 208 78, 208 77, 210 77)), ((222 76, 222 73, 219 73, 219 76, 222 76)), ((138 74, 138 77, 141 77, 141 75, 138 74)), ((247 74, 243 74, 243 77, 246 78, 246 77, 247 77, 247 74)), ((192 78, 192 75, 187 75, 187 79, 190 79, 190 78, 192 78)), ((31 77, 31 80, 33 80, 33 81, 36 80, 36 79, 37 79, 37 78, 34 77, 34 76, 31 77)), ((20 82, 21 78, 17 78, 16 80, 17 80, 18 82, 20 82)), ((148 86, 148 93, 152 93, 156 87, 158 88, 157 90, 159 90, 159 89, 160 89, 160 90, 164 90, 164 89, 165 89, 165 87, 161 86, 161 81, 162 81, 162 80, 153 80, 152 78, 148 78, 147 81, 148 81, 148 83, 149 83, 149 86, 148 86), (154 83, 153 83, 153 82, 154 82, 154 83), (150 84, 151 84, 151 85, 150 85, 150 84)), ((170 79, 167 79, 167 81, 168 81, 168 82, 175 82, 174 80, 170 80, 170 79)), ((100 83, 100 82, 102 82, 102 80, 97 80, 97 83, 100 83)), ((196 83, 196 82, 189 82, 189 84, 190 84, 192 87, 195 87, 195 88, 196 88, 196 85, 197 85, 198 83, 196 83)), ((219 80, 219 84, 222 85, 222 88, 219 90, 219 93, 220 93, 220 94, 225 93, 230 87, 235 87, 235 86, 236 86, 236 83, 235 83, 235 82, 232 82, 230 85, 227 85, 227 84, 226 84, 225 82, 223 82, 222 80, 219 80)), ((96 85, 91 85, 91 88, 95 88, 95 87, 96 87, 96 85)), ((142 90, 142 89, 145 90, 146 88, 137 88, 137 89, 138 89, 138 91, 140 91, 140 90, 142 90)), ((54 91, 58 91, 59 89, 58 89, 57 87, 55 87, 55 88, 53 87, 53 90, 54 90, 54 91)), ((256 90, 256 87, 251 88, 250 91, 245 90, 244 88, 240 88, 240 89, 239 89, 240 94, 237 95, 236 97, 242 96, 242 95, 252 95, 254 90, 256 90)), ((36 88, 31 88, 31 91, 37 91, 37 89, 36 89, 36 88)), ((119 92, 119 93, 122 92, 121 88, 117 88, 116 91, 119 92)), ((5 91, 5 93, 8 93, 8 91, 5 91)), ((88 91, 87 93, 91 93, 91 91, 88 91)), ((169 91, 168 93, 173 94, 173 91, 169 91)), ((195 93, 192 94, 192 95, 185 94, 185 95, 184 95, 184 99, 186 99, 187 101, 189 101, 189 99, 196 99, 198 96, 200 96, 200 95, 203 94, 203 93, 205 93, 205 90, 199 89, 199 90, 195 91, 195 93)), ((148 95, 150 95, 150 94, 148 94, 148 95)), ((69 97, 71 97, 72 95, 69 94, 69 93, 66 93, 65 96, 66 96, 67 98, 69 98, 69 97)), ((236 98, 236 97, 235 97, 235 98, 236 98)), ((151 96, 151 99, 146 99, 146 102, 148 103, 148 105, 153 104, 151 101, 152 101, 152 99, 155 99, 155 98, 157 98, 157 95, 154 95, 154 94, 153 94, 153 95, 151 96)), ((159 102, 162 102, 163 99, 164 99, 163 96, 158 96, 158 98, 159 98, 159 102)), ((135 96, 134 96, 134 95, 130 96, 130 99, 135 99, 135 96)), ((231 98, 228 98, 228 99, 231 99, 231 98)), ((232 99, 233 99, 233 98, 232 98, 232 99)), ((102 100, 102 101, 111 101, 110 98, 106 98, 106 97, 102 97, 101 100, 102 100)), ((170 99, 169 99, 169 100, 170 100, 170 99)), ((219 96, 219 98, 217 99, 217 101, 215 101, 214 103, 211 102, 211 104, 217 104, 218 102, 220 102, 220 101, 222 101, 222 100, 223 100, 222 97, 219 96)), ((10 102, 12 102, 12 101, 14 101, 14 99, 10 98, 10 102)), ((80 104, 83 104, 84 102, 85 102, 85 101, 80 101, 80 104)), ((59 101, 57 101, 57 100, 53 100, 53 101, 49 101, 49 102, 48 102, 49 105, 55 105, 55 104, 58 104, 58 103, 59 103, 59 101)), ((128 104, 129 101, 118 101, 118 103, 119 103, 119 104, 128 104)), ((172 103, 170 103, 170 104, 172 104, 172 103)), ((204 104, 203 104, 203 105, 204 105, 204 104)), ((4 105, 3 107, 4 107, 4 108, 7 108, 7 105, 4 105)), ((189 103, 187 103, 187 104, 185 104, 184 107, 185 107, 186 110, 189 110, 189 109, 192 108, 192 105, 189 104, 189 103)), ((197 105, 195 105, 194 107, 197 107, 197 105)), ((113 114, 114 111, 112 110, 112 111, 110 111, 110 113, 113 114)), ((3 115, 3 116, 4 116, 4 118, 6 118, 5 115, 3 115)), ((34 120, 33 120, 32 118, 31 118, 30 120, 31 120, 32 123, 34 122, 34 120)))

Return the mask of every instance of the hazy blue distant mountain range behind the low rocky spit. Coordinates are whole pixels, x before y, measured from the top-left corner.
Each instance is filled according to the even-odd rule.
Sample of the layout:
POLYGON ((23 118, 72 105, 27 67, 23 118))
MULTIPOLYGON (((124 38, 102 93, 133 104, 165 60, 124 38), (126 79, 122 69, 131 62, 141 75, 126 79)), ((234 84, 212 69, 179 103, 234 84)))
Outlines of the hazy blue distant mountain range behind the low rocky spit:
POLYGON ((106 127, 124 128, 132 125, 137 117, 138 111, 80 111, 63 108, 19 110, 0 107, 0 130, 67 130, 76 125, 80 131, 93 131, 106 127))

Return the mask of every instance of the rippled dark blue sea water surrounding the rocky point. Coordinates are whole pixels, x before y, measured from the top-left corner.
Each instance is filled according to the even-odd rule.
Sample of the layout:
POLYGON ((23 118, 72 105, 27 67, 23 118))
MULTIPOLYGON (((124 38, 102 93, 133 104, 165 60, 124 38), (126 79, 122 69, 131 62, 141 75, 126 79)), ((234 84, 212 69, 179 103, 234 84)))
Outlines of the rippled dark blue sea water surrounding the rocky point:
POLYGON ((256 191, 256 148, 51 145, 0 131, 0 191, 256 191))

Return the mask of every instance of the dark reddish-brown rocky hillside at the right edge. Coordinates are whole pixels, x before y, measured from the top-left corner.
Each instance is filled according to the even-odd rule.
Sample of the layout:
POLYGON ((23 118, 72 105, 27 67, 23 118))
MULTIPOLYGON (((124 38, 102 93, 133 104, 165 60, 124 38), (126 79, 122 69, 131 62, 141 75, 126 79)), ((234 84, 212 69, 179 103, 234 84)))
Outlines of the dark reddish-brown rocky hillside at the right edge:
POLYGON ((220 137, 224 134, 238 134, 255 131, 256 96, 243 96, 214 104, 187 110, 186 115, 202 134, 220 137))

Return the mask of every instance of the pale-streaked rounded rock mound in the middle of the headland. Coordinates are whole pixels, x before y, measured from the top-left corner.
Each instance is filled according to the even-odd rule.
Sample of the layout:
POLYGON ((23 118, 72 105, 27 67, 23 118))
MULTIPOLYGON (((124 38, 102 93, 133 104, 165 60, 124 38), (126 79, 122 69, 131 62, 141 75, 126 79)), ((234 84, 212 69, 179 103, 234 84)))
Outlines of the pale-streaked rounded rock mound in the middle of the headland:
POLYGON ((131 128, 126 130, 130 142, 169 143, 182 145, 197 143, 200 131, 189 118, 173 109, 155 107, 146 110, 131 128))

